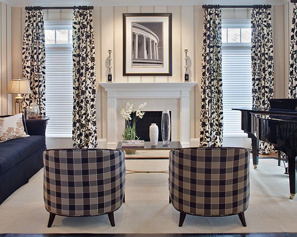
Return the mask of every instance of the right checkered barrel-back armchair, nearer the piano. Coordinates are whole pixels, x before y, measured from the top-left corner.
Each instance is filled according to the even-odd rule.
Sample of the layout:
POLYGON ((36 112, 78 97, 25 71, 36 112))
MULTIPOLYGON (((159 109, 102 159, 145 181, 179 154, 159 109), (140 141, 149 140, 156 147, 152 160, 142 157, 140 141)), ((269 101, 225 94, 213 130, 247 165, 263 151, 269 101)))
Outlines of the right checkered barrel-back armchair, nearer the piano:
POLYGON ((169 202, 186 214, 239 215, 249 200, 249 151, 244 148, 185 148, 169 154, 169 202))

